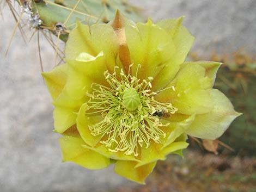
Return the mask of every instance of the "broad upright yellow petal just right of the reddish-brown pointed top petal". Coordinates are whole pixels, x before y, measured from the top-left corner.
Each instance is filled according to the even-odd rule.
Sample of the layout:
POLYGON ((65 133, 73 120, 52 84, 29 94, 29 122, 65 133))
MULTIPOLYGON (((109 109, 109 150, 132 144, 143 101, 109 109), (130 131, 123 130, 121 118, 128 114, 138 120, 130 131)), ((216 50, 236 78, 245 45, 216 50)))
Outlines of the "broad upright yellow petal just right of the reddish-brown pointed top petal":
POLYGON ((138 78, 155 77, 175 53, 172 37, 151 20, 145 24, 126 26, 125 35, 133 63, 133 75, 136 75, 138 64, 141 65, 138 78))

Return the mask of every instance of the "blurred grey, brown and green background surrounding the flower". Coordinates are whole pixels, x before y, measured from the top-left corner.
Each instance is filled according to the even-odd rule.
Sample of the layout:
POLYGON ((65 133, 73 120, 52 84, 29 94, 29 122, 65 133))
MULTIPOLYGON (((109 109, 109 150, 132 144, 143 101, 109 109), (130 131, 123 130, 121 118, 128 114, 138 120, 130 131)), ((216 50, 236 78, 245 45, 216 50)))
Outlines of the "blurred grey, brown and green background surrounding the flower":
MULTIPOLYGON (((2 0, 3 1, 3 0, 2 0)), ((52 132, 51 97, 40 76, 37 33, 25 43, 6 3, 0 19, 0 191, 87 192, 255 192, 256 191, 256 1, 131 0, 142 18, 153 21, 185 16, 196 37, 188 60, 216 60, 224 65, 216 88, 243 113, 205 150, 190 138, 185 158, 171 155, 139 185, 114 174, 113 167, 86 170, 62 163, 58 135, 52 132), (224 143, 224 144, 223 144, 224 143), (209 151, 214 151, 218 155, 209 151)), ((12 2, 12 4, 15 4, 12 2)), ((15 5, 19 12, 19 6, 15 5)), ((32 31, 23 26, 29 39, 32 31)), ((39 36, 44 70, 54 66, 54 49, 39 36)), ((60 43, 60 47, 63 44, 60 43)), ((206 147, 207 148, 207 147, 206 147)))

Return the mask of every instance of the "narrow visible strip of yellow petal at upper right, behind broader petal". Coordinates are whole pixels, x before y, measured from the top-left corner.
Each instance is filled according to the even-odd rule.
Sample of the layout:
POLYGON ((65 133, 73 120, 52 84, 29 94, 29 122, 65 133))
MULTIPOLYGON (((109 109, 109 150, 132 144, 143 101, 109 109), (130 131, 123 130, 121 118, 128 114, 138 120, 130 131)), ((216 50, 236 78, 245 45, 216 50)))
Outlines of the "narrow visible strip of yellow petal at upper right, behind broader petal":
POLYGON ((188 32, 184 26, 180 26, 178 31, 174 33, 173 42, 176 47, 176 52, 173 57, 153 80, 154 90, 165 88, 179 71, 180 64, 184 62, 188 52, 193 44, 194 37, 188 32))

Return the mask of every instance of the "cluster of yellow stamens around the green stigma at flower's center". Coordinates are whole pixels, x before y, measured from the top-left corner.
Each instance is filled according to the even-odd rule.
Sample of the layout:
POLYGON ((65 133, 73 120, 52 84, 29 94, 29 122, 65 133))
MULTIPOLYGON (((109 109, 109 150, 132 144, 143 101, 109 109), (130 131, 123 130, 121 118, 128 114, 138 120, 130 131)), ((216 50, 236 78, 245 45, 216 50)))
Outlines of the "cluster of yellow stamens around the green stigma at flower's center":
POLYGON ((166 137, 161 127, 167 124, 161 123, 161 114, 174 114, 178 109, 154 100, 157 94, 151 91, 153 77, 141 80, 137 72, 131 76, 129 70, 125 75, 121 69, 118 78, 117 69, 116 66, 113 74, 105 72, 109 87, 92 85, 86 114, 100 113, 102 120, 89 129, 92 135, 101 135, 100 143, 109 151, 138 156, 138 147, 149 147, 150 140, 159 144, 166 137))

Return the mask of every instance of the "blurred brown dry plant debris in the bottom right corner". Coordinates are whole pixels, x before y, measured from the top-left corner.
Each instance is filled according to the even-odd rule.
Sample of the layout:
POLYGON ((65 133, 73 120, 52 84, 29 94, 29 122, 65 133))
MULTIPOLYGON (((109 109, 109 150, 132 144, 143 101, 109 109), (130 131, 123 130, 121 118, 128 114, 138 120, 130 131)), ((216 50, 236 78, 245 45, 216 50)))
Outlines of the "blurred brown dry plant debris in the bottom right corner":
POLYGON ((147 185, 131 188, 130 183, 118 192, 253 192, 256 182, 255 157, 227 157, 190 151, 180 159, 168 157, 156 165, 147 185))

